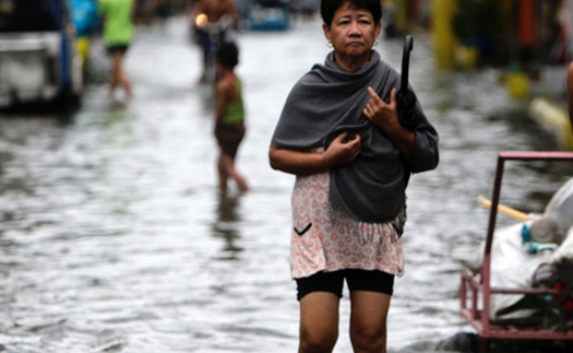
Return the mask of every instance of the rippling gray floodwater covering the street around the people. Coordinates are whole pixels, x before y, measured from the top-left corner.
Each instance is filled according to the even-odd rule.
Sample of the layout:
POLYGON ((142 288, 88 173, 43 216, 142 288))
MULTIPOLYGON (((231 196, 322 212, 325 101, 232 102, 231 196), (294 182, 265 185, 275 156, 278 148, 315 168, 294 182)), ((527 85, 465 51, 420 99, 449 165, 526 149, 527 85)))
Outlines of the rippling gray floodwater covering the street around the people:
MULTIPOLYGON (((491 195, 497 153, 554 149, 492 73, 435 71, 429 37, 415 40, 410 82, 440 133, 441 164, 408 187, 390 352, 437 352, 471 331, 458 313, 459 269, 486 234, 488 211, 476 199, 491 195)), ((329 48, 319 19, 242 32, 238 43, 244 196, 218 197, 213 101, 196 84, 200 54, 183 17, 138 30, 127 106, 98 78, 67 121, 0 114, 0 352, 296 352, 294 177, 270 168, 267 149, 290 87, 329 48)), ((402 44, 377 48, 399 68, 402 44)), ((95 52, 94 66, 105 71, 105 59, 95 52)), ((506 170, 501 201, 542 212, 572 168, 506 170)), ((347 298, 337 353, 351 352, 347 298)))

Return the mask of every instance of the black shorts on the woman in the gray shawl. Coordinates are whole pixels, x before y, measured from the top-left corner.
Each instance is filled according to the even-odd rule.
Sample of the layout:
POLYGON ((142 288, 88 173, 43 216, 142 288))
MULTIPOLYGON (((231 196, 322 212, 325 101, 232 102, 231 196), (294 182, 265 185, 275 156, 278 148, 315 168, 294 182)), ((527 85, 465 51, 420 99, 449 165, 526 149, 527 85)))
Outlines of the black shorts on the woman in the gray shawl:
POLYGON ((317 272, 311 276, 296 279, 297 299, 300 301, 311 292, 330 292, 343 296, 344 280, 348 290, 378 292, 392 295, 394 293, 394 274, 383 271, 348 269, 334 272, 317 272))

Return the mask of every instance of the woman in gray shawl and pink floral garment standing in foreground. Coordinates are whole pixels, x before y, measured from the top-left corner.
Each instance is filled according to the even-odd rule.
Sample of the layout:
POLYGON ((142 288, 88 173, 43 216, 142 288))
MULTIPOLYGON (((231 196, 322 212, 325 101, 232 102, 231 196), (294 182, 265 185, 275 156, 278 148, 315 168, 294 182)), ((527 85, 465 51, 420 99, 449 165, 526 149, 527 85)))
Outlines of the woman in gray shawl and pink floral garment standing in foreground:
POLYGON ((438 166, 438 133, 418 102, 419 123, 399 122, 399 75, 372 49, 380 0, 323 0, 321 16, 333 51, 293 87, 268 153, 273 168, 297 176, 299 352, 333 351, 345 281, 354 351, 386 352, 394 276, 404 273, 406 186, 411 173, 438 166))

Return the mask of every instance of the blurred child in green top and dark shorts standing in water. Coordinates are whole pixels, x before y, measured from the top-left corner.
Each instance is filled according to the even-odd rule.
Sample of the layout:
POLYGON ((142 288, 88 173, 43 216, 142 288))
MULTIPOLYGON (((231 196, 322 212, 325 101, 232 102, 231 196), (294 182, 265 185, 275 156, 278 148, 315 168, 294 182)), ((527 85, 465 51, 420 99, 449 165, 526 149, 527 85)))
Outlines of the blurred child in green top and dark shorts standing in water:
POLYGON ((247 181, 235 168, 235 158, 246 130, 241 80, 235 73, 238 63, 237 45, 224 44, 217 51, 215 62, 215 138, 219 146, 217 169, 222 195, 227 193, 229 178, 237 183, 241 192, 249 190, 247 181))

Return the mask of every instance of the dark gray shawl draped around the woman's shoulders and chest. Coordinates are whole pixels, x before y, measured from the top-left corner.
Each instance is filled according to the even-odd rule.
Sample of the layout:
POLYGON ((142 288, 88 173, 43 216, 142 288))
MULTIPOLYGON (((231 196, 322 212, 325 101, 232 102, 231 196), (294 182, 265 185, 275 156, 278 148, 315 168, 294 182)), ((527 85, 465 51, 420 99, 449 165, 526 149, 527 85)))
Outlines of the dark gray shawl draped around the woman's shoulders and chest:
POLYGON ((360 155, 349 165, 330 170, 330 201, 363 222, 393 220, 406 202, 410 173, 438 165, 438 132, 428 122, 419 103, 415 114, 421 123, 414 129, 414 164, 406 163, 385 131, 362 114, 369 86, 384 102, 398 89, 399 74, 372 51, 370 61, 356 72, 334 62, 334 52, 324 64, 314 64, 290 91, 273 134, 271 146, 297 151, 327 149, 344 131, 360 134, 360 155))

